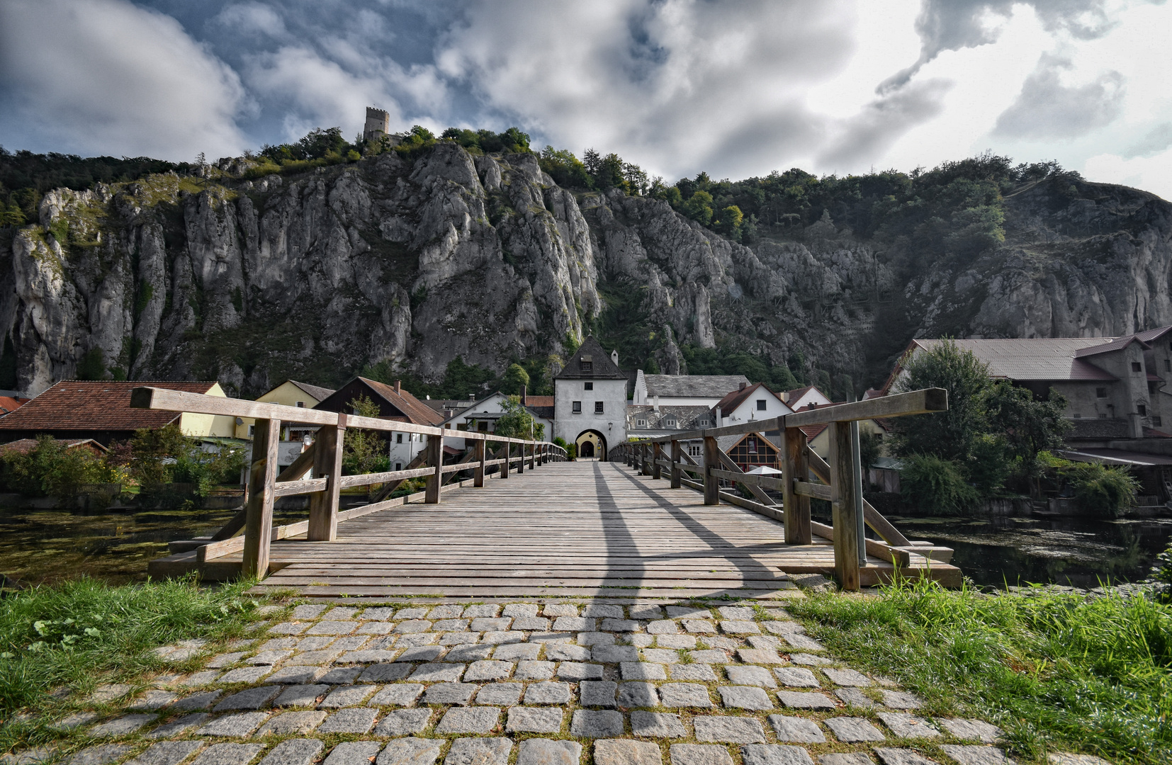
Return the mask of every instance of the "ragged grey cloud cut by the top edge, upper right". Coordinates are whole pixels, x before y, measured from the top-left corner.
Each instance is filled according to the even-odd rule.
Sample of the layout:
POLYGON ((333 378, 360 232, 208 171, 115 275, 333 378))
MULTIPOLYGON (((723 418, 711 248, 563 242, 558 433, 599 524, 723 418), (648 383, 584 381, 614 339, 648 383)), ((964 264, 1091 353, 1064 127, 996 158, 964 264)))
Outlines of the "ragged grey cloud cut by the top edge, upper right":
POLYGON ((915 20, 921 40, 920 57, 884 80, 878 93, 904 87, 945 50, 996 42, 1001 25, 1013 15, 1016 5, 1031 6, 1047 32, 1064 30, 1081 40, 1102 36, 1115 26, 1106 13, 1106 0, 922 0, 915 20))

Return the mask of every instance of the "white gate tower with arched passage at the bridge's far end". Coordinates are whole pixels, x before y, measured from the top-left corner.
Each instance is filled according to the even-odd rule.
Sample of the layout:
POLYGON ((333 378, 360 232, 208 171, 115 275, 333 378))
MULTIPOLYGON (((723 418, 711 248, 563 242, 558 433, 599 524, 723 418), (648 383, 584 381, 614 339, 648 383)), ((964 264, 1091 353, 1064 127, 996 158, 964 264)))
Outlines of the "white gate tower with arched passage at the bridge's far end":
POLYGON ((578 445, 579 457, 606 459, 627 439, 627 375, 619 354, 607 354, 593 336, 553 378, 553 435, 578 445))

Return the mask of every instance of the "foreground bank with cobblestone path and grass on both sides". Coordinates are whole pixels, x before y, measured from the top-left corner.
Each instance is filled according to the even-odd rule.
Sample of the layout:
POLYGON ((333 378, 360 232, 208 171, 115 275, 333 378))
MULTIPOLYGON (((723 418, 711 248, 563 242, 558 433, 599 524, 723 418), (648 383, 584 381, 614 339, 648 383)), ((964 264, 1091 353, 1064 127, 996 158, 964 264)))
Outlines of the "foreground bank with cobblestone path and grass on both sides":
POLYGON ((143 761, 200 751, 198 765, 230 742, 238 765, 282 746, 312 750, 308 765, 348 751, 338 746, 364 747, 364 761, 388 739, 432 742, 436 754, 493 740, 459 738, 477 733, 540 735, 593 747, 594 761, 602 738, 649 742, 674 765, 689 752, 748 763, 741 744, 754 740, 813 760, 906 750, 954 765, 992 753, 989 723, 1018 763, 1172 756, 1172 613, 1140 599, 921 586, 809 592, 784 610, 728 599, 294 606, 190 582, 5 597, 0 751, 114 765, 171 742, 143 761), (696 743, 708 749, 676 749, 696 743))

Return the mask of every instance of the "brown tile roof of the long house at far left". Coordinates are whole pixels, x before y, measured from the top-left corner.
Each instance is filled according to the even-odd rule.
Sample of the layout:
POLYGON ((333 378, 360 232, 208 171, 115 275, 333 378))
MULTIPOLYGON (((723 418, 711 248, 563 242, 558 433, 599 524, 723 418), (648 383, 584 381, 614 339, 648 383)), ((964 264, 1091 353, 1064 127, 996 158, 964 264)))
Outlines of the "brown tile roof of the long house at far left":
POLYGON ((142 385, 206 394, 214 382, 155 380, 82 382, 62 380, 16 411, 0 417, 0 438, 6 430, 137 430, 162 428, 178 412, 131 409, 130 391, 142 385))

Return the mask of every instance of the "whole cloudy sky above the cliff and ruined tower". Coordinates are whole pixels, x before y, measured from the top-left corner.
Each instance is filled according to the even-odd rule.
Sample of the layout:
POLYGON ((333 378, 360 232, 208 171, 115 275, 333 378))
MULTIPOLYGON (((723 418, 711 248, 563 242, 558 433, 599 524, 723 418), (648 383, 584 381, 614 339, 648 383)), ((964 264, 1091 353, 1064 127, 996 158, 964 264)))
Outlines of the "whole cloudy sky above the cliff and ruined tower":
POLYGON ((1057 160, 1172 199, 1164 0, 4 0, 0 145, 504 130, 668 182, 1057 160))

